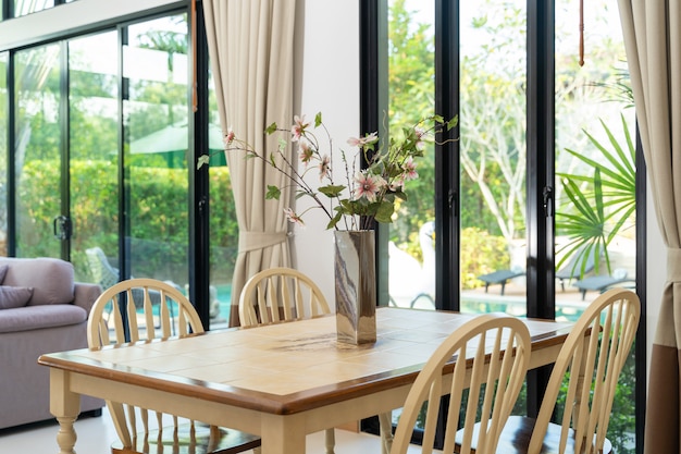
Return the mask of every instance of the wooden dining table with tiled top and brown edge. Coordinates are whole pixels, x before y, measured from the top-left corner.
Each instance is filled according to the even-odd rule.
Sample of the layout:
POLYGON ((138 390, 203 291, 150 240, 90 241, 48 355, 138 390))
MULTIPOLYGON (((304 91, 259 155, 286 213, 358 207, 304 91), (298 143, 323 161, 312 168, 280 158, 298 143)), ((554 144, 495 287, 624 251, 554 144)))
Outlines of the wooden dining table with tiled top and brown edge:
MULTIPOLYGON (((379 308, 377 340, 336 341, 335 317, 40 356, 60 453, 74 453, 81 395, 239 429, 263 454, 306 451, 306 435, 400 408, 433 351, 474 317, 379 308)), ((571 323, 524 320, 530 367, 554 363, 571 323)))

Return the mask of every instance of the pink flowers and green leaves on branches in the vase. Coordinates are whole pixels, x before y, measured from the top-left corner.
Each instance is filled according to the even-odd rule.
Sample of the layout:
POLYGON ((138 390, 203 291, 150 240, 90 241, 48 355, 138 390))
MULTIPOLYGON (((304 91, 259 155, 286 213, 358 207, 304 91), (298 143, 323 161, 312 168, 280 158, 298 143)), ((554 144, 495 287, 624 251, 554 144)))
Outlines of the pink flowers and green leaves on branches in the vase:
MULTIPOLYGON (((412 127, 403 128, 404 138, 391 138, 388 144, 381 144, 377 133, 364 137, 350 137, 347 144, 357 149, 351 157, 340 149, 340 159, 345 170, 345 184, 334 180, 333 139, 322 121, 321 112, 314 116, 312 126, 305 115, 294 116, 290 128, 280 128, 272 123, 265 134, 289 134, 292 143, 297 144, 300 165, 288 159, 285 154, 288 142, 281 139, 278 148, 271 154, 260 154, 249 144, 239 140, 230 128, 224 137, 225 151, 243 150, 247 159, 261 159, 282 172, 289 184, 278 187, 268 185, 265 198, 277 199, 282 191, 295 187, 296 198, 310 197, 313 204, 302 212, 286 208, 286 217, 290 222, 305 225, 302 217, 311 209, 321 209, 329 218, 326 229, 366 230, 373 221, 389 223, 395 211, 396 199, 407 199, 405 183, 418 177, 416 159, 423 156, 424 140, 429 139, 443 127, 447 131, 457 125, 458 116, 445 122, 441 115, 432 115, 420 120, 412 127), (323 131, 323 144, 317 131, 323 131), (367 165, 360 167, 360 158, 367 165), (313 187, 307 174, 317 171, 320 185, 313 187)), ((209 156, 199 158, 198 167, 208 163, 209 156)))

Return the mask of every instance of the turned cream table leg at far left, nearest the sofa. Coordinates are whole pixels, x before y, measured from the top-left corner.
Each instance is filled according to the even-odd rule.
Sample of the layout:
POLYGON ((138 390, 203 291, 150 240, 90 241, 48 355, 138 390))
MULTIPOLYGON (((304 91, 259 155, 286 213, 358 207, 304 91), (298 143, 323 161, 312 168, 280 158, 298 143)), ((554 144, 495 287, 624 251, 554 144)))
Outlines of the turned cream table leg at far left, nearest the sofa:
POLYGON ((73 424, 81 412, 81 395, 69 390, 69 372, 50 369, 50 413, 59 422, 59 454, 75 454, 76 431, 73 424))

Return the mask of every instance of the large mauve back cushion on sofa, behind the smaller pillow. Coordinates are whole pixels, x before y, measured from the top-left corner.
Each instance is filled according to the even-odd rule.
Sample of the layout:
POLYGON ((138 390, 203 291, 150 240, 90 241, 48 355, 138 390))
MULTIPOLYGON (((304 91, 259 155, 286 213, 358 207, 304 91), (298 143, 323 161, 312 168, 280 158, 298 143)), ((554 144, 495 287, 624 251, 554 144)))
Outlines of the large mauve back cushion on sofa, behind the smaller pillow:
POLYGON ((28 306, 73 303, 73 265, 58 258, 0 257, 8 265, 3 285, 33 287, 28 306))

